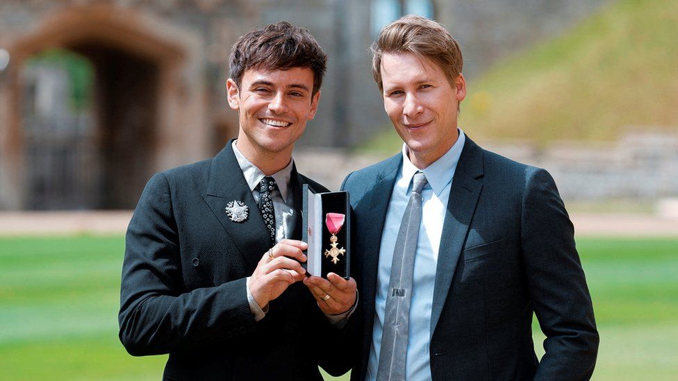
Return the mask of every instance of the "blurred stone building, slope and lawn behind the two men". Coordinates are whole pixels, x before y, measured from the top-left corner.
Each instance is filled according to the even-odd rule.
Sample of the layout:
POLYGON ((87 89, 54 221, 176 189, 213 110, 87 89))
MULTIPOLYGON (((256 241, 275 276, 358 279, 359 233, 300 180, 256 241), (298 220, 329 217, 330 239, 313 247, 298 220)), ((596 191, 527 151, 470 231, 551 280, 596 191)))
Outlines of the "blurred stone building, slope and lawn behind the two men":
POLYGON ((160 378, 164 356, 117 341, 124 230, 152 173, 237 134, 233 42, 285 20, 328 53, 295 161, 337 189, 402 145, 368 48, 410 13, 461 44, 465 133, 556 179, 602 337, 594 379, 675 377, 678 0, 2 0, 0 378, 160 378))

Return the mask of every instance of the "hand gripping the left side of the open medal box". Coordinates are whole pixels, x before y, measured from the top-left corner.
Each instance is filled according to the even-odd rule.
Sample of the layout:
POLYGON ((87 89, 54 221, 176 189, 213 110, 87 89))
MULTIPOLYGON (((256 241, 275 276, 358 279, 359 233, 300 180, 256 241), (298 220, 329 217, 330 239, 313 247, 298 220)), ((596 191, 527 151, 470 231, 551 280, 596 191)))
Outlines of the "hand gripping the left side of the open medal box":
POLYGON ((306 270, 300 262, 306 262, 301 251, 307 246, 306 242, 283 239, 261 257, 249 278, 249 292, 259 307, 263 309, 292 283, 304 279, 306 270))

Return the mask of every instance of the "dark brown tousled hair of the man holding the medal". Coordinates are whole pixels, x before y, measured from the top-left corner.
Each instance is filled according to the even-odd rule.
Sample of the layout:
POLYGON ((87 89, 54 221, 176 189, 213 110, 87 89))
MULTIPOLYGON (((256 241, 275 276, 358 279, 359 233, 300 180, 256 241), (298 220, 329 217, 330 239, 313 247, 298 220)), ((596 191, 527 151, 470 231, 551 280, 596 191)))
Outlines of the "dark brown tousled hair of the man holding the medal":
POLYGON ((292 69, 313 71, 313 94, 320 90, 327 55, 306 28, 276 22, 243 35, 235 42, 229 58, 231 78, 240 87, 247 69, 292 69))

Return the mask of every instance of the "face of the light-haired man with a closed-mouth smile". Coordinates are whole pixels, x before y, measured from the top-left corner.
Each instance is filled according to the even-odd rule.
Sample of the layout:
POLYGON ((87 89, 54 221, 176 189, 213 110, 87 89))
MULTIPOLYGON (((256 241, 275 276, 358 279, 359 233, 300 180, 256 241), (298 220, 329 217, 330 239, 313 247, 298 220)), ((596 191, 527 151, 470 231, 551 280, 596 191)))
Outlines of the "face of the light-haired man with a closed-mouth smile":
POLYGON ((386 53, 381 60, 383 108, 409 157, 423 169, 456 142, 457 107, 466 96, 461 74, 454 86, 431 60, 413 53, 386 53))

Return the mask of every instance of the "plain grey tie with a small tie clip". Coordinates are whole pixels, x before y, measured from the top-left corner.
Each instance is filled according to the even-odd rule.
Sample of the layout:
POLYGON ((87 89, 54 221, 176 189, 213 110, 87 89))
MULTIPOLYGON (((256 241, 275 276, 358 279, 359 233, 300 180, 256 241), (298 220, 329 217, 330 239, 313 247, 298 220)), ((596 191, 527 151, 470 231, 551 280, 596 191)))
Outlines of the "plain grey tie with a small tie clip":
POLYGON ((422 189, 426 183, 424 173, 417 171, 412 178, 410 201, 405 208, 398 238, 395 241, 381 335, 381 353, 377 371, 379 381, 405 380, 414 257, 417 251, 419 226, 422 222, 422 189))

